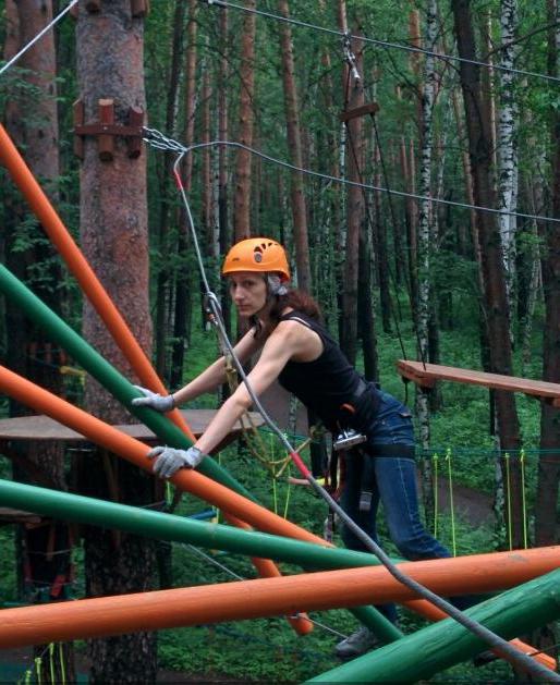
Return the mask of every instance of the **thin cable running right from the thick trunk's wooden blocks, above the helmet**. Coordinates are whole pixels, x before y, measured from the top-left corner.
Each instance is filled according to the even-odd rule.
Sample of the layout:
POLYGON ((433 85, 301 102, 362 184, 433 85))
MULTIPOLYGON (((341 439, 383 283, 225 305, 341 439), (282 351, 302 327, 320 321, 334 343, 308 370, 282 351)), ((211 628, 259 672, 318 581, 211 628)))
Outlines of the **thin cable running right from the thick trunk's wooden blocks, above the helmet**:
POLYGON ((460 203, 459 200, 446 199, 442 197, 430 197, 426 195, 418 195, 416 193, 406 193, 404 191, 395 191, 394 188, 387 188, 379 185, 373 185, 370 183, 360 183, 357 181, 349 181, 348 179, 342 179, 340 176, 332 176, 328 173, 321 173, 319 171, 314 171, 312 169, 305 169, 304 167, 296 167, 290 162, 283 161, 281 159, 277 159, 271 157, 270 155, 266 155, 256 150, 248 145, 243 145, 243 143, 238 143, 235 140, 209 140, 208 143, 196 143, 194 145, 190 145, 188 147, 184 147, 183 145, 173 142, 173 144, 168 145, 169 138, 165 136, 161 132, 155 129, 144 129, 144 140, 149 143, 153 147, 161 150, 174 151, 178 154, 186 154, 193 150, 203 149, 206 147, 215 147, 215 146, 226 146, 226 147, 234 147, 238 149, 246 150, 260 159, 269 161, 273 164, 278 164, 279 167, 283 167, 284 169, 290 169, 292 171, 297 171, 299 173, 305 173, 311 176, 315 176, 317 179, 322 179, 325 181, 331 181, 334 183, 341 183, 343 185, 351 185, 355 187, 363 187, 366 191, 375 191, 377 193, 391 193, 392 195, 399 197, 409 197, 411 199, 416 199, 421 201, 428 201, 439 205, 446 205, 450 207, 460 207, 462 209, 475 209, 477 211, 487 211, 494 215, 501 215, 508 217, 518 217, 520 219, 529 219, 532 221, 548 221, 550 223, 560 223, 560 218, 555 217, 546 217, 539 215, 531 215, 524 213, 520 211, 511 211, 509 209, 495 209, 492 207, 483 207, 480 205, 471 205, 468 203, 460 203))

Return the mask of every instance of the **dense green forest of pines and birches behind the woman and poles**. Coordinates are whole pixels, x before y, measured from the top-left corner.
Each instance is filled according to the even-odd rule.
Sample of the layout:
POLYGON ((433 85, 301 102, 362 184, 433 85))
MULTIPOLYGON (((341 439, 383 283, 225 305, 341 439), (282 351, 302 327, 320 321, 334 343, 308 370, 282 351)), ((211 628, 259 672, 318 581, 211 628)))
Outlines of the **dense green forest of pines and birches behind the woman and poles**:
MULTIPOLYGON (((63 5, 4 0, 0 8, 9 60, 63 5)), ((449 468, 452 453, 453 477, 498 503, 492 549, 555 543, 558 411, 471 387, 414 396, 394 362, 560 377, 556 2, 246 0, 227 9, 155 0, 147 10, 142 0, 81 1, 77 22, 64 17, 1 75, 0 107, 27 163, 153 351, 166 386, 176 388, 219 352, 206 330, 193 243, 171 174, 174 155, 146 145, 138 156, 123 138, 108 144, 74 135, 76 126, 98 122, 110 100, 118 123, 139 112, 146 125, 183 146, 205 144, 185 157, 181 174, 210 286, 233 335, 221 256, 246 235, 277 237, 289 249, 295 283, 318 299, 349 358, 414 402, 431 524, 434 454, 446 455, 449 468), (289 16, 293 22, 279 19, 289 16), (356 108, 362 115, 351 117, 356 108), (210 144, 218 139, 283 163, 210 144)), ((2 261, 132 378, 0 173, 2 261)), ((72 363, 8 298, 0 303, 9 368, 106 420, 131 420, 95 383, 84 391, 81 376, 61 374, 72 363)), ((5 401, 2 412, 27 409, 5 401)), ((85 475, 71 467, 60 445, 28 445, 16 460, 5 456, 15 479, 107 494, 107 479, 93 478, 93 466, 85 475)), ((239 467, 247 470, 246 460, 239 467)), ((132 470, 117 469, 117 481, 121 501, 151 501, 151 486, 132 470)), ((256 487, 269 490, 270 481, 256 487)), ((294 496, 300 499, 296 516, 316 527, 321 516, 294 496)), ((60 528, 58 535, 68 535, 60 528)), ((16 535, 20 561, 40 545, 29 535, 16 535)), ((85 534, 86 592, 144 587, 146 568, 156 578, 157 551, 125 536, 126 555, 145 563, 109 583, 109 537, 85 534)), ((17 577, 14 587, 22 590, 17 577)), ((147 657, 130 676, 149 678, 155 638, 132 636, 90 647, 94 680, 117 673, 118 656, 130 653, 135 639, 147 657)))

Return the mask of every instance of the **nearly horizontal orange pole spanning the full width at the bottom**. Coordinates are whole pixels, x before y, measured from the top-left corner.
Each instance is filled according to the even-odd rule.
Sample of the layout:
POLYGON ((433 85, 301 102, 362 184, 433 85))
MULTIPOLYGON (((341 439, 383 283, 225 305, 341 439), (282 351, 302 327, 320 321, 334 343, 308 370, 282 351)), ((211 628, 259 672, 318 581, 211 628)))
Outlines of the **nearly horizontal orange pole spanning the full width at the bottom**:
MULTIPOLYGON (((477 554, 400 565, 442 595, 513 587, 558 568, 560 548, 477 554)), ((322 571, 240 583, 40 604, 1 612, 0 647, 21 647, 134 631, 240 621, 307 610, 403 601, 412 590, 384 567, 322 571)))

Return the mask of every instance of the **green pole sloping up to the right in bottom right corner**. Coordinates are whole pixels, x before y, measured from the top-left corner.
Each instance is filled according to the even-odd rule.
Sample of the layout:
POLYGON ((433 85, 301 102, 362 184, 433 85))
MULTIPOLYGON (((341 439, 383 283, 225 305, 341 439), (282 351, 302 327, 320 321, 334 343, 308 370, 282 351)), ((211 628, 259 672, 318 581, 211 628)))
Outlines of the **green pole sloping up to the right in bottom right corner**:
MULTIPOLYGON (((560 570, 502 592, 465 611, 504 639, 560 617, 560 570)), ((415 683, 470 659, 486 644, 452 619, 318 675, 309 683, 415 683)), ((537 665, 537 664, 535 664, 537 665)), ((549 680, 558 675, 550 671, 549 680)))

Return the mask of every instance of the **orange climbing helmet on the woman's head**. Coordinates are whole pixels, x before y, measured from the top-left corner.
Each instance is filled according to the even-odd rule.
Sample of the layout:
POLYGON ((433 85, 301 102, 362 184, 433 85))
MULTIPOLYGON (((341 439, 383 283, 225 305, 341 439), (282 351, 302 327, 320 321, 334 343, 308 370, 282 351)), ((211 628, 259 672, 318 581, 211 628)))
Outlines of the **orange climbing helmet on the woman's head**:
POLYGON ((284 248, 269 237, 248 237, 233 245, 227 254, 223 276, 239 271, 273 271, 281 281, 290 280, 290 267, 284 248))

